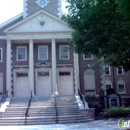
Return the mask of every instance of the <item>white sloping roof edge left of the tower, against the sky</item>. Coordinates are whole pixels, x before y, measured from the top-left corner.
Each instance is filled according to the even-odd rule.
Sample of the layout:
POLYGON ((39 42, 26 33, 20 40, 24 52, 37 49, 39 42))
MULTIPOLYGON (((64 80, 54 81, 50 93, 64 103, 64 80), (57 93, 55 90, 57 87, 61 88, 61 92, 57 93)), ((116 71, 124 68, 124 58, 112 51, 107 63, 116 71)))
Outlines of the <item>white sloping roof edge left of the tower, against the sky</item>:
POLYGON ((16 15, 15 17, 5 21, 4 23, 0 24, 0 29, 2 29, 3 27, 7 26, 8 24, 14 22, 15 20, 19 19, 21 16, 23 16, 23 13, 20 13, 18 15, 16 15))

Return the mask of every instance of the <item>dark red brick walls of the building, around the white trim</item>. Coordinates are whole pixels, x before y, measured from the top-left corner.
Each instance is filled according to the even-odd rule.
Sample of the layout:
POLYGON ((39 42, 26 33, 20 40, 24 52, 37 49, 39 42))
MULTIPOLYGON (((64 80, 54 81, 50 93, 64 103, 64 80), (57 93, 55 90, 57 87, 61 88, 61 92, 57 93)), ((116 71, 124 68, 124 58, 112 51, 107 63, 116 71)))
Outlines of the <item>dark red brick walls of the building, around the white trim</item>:
MULTIPOLYGON (((27 14, 28 16, 36 13, 37 11, 42 10, 42 8, 35 2, 36 0, 27 0, 27 14)), ((44 11, 51 13, 54 16, 58 17, 58 0, 49 0, 50 2, 46 7, 43 8, 44 11)), ((23 18, 19 17, 17 20, 7 24, 7 26, 3 27, 0 29, 0 37, 1 36, 6 36, 4 33, 4 30, 18 22, 20 22, 23 18)), ((63 39, 65 41, 65 39, 63 39)), ((22 66, 22 65, 29 65, 29 40, 27 42, 26 40, 19 40, 17 39, 16 41, 12 40, 12 67, 13 66, 22 66), (17 43, 18 41, 18 43, 17 43), (23 42, 24 41, 24 42, 23 42), (26 41, 26 42, 25 42, 26 41), (17 56, 17 46, 26 46, 27 47, 27 60, 26 61, 17 61, 16 56, 17 56)), ((48 41, 48 39, 47 39, 48 41)), ((62 40, 61 40, 62 41, 62 40)), ((48 46, 48 62, 52 63, 52 44, 51 40, 50 42, 46 42, 46 40, 35 40, 34 39, 34 63, 39 62, 38 60, 38 46, 48 46)), ((69 45, 67 42, 59 42, 56 40, 56 62, 57 64, 72 64, 74 67, 74 55, 73 52, 69 52, 70 59, 68 60, 60 60, 59 58, 59 46, 60 45, 69 45)), ((0 72, 3 73, 3 80, 4 80, 4 92, 6 90, 6 40, 0 40, 0 48, 3 48, 3 62, 0 62, 0 72)), ((80 79, 80 90, 82 93, 86 93, 85 91, 85 85, 84 85, 84 71, 88 68, 89 65, 93 64, 95 60, 84 60, 83 59, 83 54, 79 54, 79 79, 80 79)), ((102 78, 101 78, 101 68, 100 67, 94 67, 92 68, 94 71, 94 76, 95 76, 95 94, 99 95, 100 90, 102 87, 102 78)), ((110 75, 105 75, 105 80, 109 80, 112 83, 112 87, 115 89, 116 94, 118 93, 117 89, 117 83, 119 80, 123 80, 125 83, 125 88, 126 88, 126 93, 121 94, 122 98, 124 99, 125 102, 128 103, 128 98, 130 98, 130 73, 124 73, 123 75, 117 75, 117 70, 114 67, 111 67, 111 73, 110 75)), ((13 71, 12 71, 13 72, 13 71)), ((13 77, 13 75, 12 75, 13 77)))

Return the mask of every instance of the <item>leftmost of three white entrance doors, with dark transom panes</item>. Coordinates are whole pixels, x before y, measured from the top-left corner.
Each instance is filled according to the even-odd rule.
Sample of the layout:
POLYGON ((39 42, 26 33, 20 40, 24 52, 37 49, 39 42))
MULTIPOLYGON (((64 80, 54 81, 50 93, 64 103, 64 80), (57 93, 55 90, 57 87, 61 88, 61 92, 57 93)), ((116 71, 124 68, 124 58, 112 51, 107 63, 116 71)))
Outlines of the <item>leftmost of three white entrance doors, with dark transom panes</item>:
POLYGON ((29 97, 29 78, 28 73, 16 73, 16 94, 17 97, 29 97))

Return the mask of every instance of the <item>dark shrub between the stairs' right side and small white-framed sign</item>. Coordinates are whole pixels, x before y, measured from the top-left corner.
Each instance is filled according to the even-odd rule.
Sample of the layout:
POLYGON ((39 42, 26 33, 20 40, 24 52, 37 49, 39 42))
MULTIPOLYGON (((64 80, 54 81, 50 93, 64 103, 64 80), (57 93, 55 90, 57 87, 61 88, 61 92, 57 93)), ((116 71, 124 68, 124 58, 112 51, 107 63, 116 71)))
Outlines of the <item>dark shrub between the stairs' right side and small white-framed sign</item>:
POLYGON ((95 108, 95 113, 99 114, 102 111, 99 97, 86 95, 85 100, 90 108, 95 108))

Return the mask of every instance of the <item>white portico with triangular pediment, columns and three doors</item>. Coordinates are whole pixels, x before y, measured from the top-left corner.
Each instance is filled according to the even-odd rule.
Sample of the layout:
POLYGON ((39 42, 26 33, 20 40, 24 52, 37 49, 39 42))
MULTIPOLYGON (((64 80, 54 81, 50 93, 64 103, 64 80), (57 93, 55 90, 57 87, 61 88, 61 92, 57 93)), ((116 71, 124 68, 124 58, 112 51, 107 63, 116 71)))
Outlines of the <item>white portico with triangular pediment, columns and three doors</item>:
POLYGON ((79 87, 79 83, 77 84, 79 68, 75 65, 78 63, 77 55, 74 54, 74 65, 57 64, 56 44, 70 38, 72 33, 64 22, 47 12, 39 11, 9 27, 5 33, 7 34, 6 86, 9 96, 13 93, 16 97, 27 97, 31 91, 36 96, 73 95, 74 92, 77 94, 79 87), (39 42, 51 44, 51 63, 36 65, 34 45, 39 42), (23 48, 24 43, 28 44, 26 64, 12 65, 14 63, 12 46, 16 43, 22 44, 23 48))

